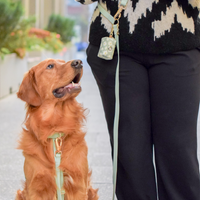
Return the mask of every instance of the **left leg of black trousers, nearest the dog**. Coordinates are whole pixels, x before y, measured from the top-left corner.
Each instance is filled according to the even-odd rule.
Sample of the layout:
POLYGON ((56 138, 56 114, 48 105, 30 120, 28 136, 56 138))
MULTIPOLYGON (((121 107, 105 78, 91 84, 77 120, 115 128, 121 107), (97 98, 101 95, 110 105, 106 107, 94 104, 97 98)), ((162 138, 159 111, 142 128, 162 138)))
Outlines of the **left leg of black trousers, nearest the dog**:
MULTIPOLYGON (((115 70, 112 61, 98 58, 98 47, 87 49, 88 63, 96 78, 110 133, 111 144, 115 108, 115 70)), ((120 122, 117 188, 118 200, 156 200, 152 162, 149 80, 139 61, 120 57, 120 122)))

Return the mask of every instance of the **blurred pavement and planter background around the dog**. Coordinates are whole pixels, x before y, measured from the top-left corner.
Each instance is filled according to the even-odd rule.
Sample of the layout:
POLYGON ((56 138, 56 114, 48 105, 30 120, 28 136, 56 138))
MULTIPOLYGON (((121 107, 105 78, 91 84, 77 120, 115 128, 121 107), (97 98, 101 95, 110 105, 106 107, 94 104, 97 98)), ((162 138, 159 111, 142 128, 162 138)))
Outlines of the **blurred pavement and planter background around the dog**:
POLYGON ((82 92, 77 100, 89 111, 86 142, 93 187, 99 188, 100 200, 111 199, 109 137, 85 55, 95 6, 75 0, 0 0, 0 200, 14 200, 25 180, 24 157, 16 147, 26 110, 16 92, 24 73, 46 58, 83 61, 82 92))

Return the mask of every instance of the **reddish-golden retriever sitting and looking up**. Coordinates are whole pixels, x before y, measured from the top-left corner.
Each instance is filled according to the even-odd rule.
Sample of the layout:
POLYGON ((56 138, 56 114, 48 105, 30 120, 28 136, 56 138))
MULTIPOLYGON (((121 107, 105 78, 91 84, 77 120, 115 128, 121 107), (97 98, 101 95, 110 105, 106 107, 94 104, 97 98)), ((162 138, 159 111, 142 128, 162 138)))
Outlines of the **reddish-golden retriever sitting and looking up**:
POLYGON ((82 61, 47 59, 24 76, 17 93, 27 104, 19 149, 25 157, 26 181, 16 200, 56 200, 56 167, 53 141, 62 133, 60 144, 65 200, 97 200, 90 183, 87 145, 84 139, 84 109, 75 97, 80 93, 82 61))

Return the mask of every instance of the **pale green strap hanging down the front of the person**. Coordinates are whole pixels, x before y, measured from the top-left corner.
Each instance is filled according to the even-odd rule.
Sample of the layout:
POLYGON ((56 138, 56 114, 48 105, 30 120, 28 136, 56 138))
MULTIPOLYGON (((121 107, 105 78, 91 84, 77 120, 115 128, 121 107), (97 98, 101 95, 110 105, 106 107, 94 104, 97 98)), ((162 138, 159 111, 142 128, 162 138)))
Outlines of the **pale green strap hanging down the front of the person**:
MULTIPOLYGON (((116 192, 116 183, 117 183, 117 159, 118 159, 118 129, 119 129, 119 113, 120 113, 120 100, 119 100, 119 63, 120 63, 120 55, 119 55, 119 25, 114 24, 116 20, 119 20, 118 16, 121 15, 121 11, 126 8, 128 0, 121 0, 119 4, 119 10, 113 17, 110 15, 101 5, 98 3, 99 11, 104 17, 106 17, 111 24, 113 25, 114 37, 116 39, 117 45, 117 68, 115 74, 115 117, 114 117, 114 126, 113 126, 113 194, 112 200, 115 200, 115 192, 116 192), (120 9, 121 8, 121 9, 120 9)), ((117 199, 117 198, 116 198, 117 199)))

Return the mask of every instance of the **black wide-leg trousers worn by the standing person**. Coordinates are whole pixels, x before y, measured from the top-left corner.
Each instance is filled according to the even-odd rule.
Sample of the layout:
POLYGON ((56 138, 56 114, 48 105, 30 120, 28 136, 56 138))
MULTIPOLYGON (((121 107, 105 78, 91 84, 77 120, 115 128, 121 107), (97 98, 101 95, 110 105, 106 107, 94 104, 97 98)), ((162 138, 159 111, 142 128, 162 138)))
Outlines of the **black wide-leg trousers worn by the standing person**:
MULTIPOLYGON (((106 61, 97 57, 98 49, 89 45, 87 60, 100 90, 112 145, 117 55, 106 61)), ((157 193, 159 200, 200 200, 200 51, 121 52, 119 79, 118 200, 156 200, 157 193)))

